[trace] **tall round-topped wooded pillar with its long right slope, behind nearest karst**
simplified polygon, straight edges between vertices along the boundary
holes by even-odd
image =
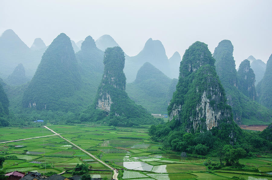
[[[270,124],[272,112],[250,97],[245,96],[238,89],[238,75],[231,41],[222,40],[215,48],[213,57],[216,60],[216,73],[225,89],[227,103],[232,106],[234,121],[245,125]]]

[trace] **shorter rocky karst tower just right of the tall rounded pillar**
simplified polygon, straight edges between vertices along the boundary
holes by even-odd
[[[238,89],[241,90],[244,95],[254,100],[256,96],[255,74],[250,68],[250,62],[247,59],[241,62],[237,75],[239,81]]]

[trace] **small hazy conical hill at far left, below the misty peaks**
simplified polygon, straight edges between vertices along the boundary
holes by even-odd
[[[25,76],[24,66],[19,64],[5,81],[11,86],[19,86],[29,81],[29,79]]]

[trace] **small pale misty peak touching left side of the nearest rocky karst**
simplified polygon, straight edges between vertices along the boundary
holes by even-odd
[[[168,59],[169,61],[169,66],[170,66],[170,74],[171,74],[171,78],[178,78],[179,77],[179,73],[180,73],[180,61],[181,61],[181,57],[180,54],[178,52],[175,52],[173,54],[173,56],[171,58]]]

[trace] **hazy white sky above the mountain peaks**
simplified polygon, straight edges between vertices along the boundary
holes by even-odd
[[[60,33],[78,42],[111,35],[130,56],[150,37],[168,58],[183,55],[195,41],[211,52],[223,39],[234,46],[236,66],[249,55],[267,61],[272,53],[272,0],[0,0],[0,34],[12,29],[30,47]]]

